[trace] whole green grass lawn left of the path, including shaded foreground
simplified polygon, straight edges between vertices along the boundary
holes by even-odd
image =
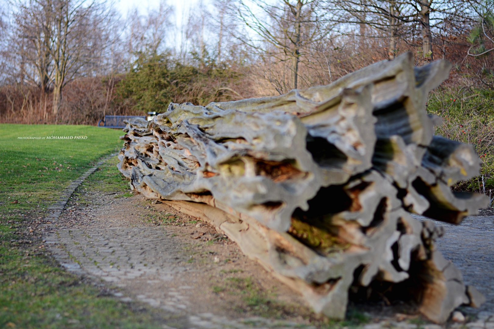
[[[102,295],[62,270],[30,232],[72,180],[122,146],[123,134],[91,126],[0,124],[0,328],[161,328],[157,312]],[[87,139],[18,139],[52,135]],[[104,178],[124,191],[115,165],[115,158],[109,160]]]

